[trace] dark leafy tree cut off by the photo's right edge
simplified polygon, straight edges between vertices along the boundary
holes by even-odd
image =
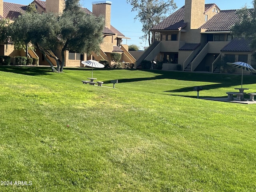
[[[237,37],[250,38],[251,48],[254,50],[254,56],[256,56],[256,0],[252,1],[254,8],[248,8],[244,6],[237,11],[238,22],[232,26],[232,34]]]

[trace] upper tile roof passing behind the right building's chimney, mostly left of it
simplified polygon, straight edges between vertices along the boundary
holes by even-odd
[[[215,4],[205,4],[204,11],[207,12]],[[184,23],[185,6],[178,9],[176,12],[168,16],[165,20],[151,28],[151,30],[178,30],[184,28],[187,23]]]

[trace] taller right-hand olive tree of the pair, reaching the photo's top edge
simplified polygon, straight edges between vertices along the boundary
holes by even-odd
[[[104,18],[86,14],[79,0],[66,0],[66,7],[60,16],[60,42],[62,55],[62,71],[64,66],[64,52],[77,53],[98,52],[103,41]]]

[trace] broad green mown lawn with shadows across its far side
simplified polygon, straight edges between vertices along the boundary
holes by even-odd
[[[256,191],[256,104],[192,91],[227,97],[241,75],[94,70],[106,87],[87,77],[0,67],[0,191]],[[256,76],[243,82],[256,92]]]

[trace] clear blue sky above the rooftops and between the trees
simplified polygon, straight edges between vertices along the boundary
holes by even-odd
[[[82,7],[92,11],[92,2],[101,0],[80,0]],[[140,39],[143,36],[142,24],[138,19],[134,20],[137,12],[131,12],[132,6],[126,3],[126,0],[108,0],[112,2],[111,5],[111,25],[119,30],[124,36],[131,38],[130,40],[123,39],[123,44],[135,44],[140,50],[144,50],[144,47],[148,46],[147,40]],[[164,0],[166,1],[166,0]],[[4,0],[4,2],[17,3],[28,5],[33,0]],[[185,0],[174,0],[177,5],[177,9],[181,8],[185,4]],[[252,8],[252,0],[205,0],[205,4],[215,3],[220,10],[240,9],[244,5],[248,8]],[[169,14],[170,15],[170,14]]]

